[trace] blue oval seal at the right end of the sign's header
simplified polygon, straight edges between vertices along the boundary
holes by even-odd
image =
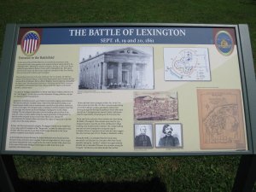
[[[230,55],[234,49],[234,41],[230,33],[219,31],[215,36],[215,46],[222,55]]]

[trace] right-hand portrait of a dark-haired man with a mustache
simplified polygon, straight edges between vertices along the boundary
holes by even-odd
[[[155,125],[156,148],[180,148],[182,143],[181,124],[158,124]]]

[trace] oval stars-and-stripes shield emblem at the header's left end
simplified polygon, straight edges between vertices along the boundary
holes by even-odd
[[[34,55],[40,46],[40,36],[38,32],[30,31],[21,38],[21,49],[27,56]]]

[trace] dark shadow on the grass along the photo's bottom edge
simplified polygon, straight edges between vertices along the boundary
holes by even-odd
[[[153,178],[151,181],[145,182],[59,182],[59,183],[46,183],[39,181],[26,181],[20,180],[19,189],[17,192],[153,192],[161,191],[166,192],[166,186],[160,182],[159,178]]]

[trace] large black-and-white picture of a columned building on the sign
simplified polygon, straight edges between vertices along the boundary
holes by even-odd
[[[152,47],[82,47],[79,89],[154,89]]]

